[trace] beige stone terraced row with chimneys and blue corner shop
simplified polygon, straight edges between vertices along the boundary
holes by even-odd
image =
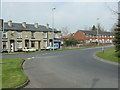
[[[54,43],[60,46],[61,31],[54,29]],[[53,44],[53,30],[46,26],[35,24],[4,23],[2,32],[2,52],[22,51],[23,48],[45,49]]]

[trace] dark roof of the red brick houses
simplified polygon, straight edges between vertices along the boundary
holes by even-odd
[[[80,32],[83,32],[88,35],[97,35],[97,31],[87,31],[87,30],[79,30]],[[99,35],[114,35],[112,32],[103,32],[103,31],[98,31]]]

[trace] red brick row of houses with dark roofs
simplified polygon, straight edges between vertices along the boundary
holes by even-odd
[[[63,36],[61,38],[69,39],[70,37],[74,37],[75,40],[77,40],[79,43],[82,44],[95,43],[95,42],[112,43],[112,40],[114,39],[114,33],[103,32],[103,31],[99,31],[97,34],[97,31],[78,30],[76,33],[70,35]]]

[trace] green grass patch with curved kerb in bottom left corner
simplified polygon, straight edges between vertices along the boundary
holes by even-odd
[[[27,80],[21,68],[22,62],[23,59],[2,60],[2,88],[14,88]]]

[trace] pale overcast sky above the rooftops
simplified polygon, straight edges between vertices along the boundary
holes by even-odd
[[[50,24],[55,7],[55,28],[68,27],[70,32],[89,29],[98,22],[109,31],[117,22],[117,2],[2,2],[2,18],[5,21]],[[99,18],[99,20],[97,20]]]

